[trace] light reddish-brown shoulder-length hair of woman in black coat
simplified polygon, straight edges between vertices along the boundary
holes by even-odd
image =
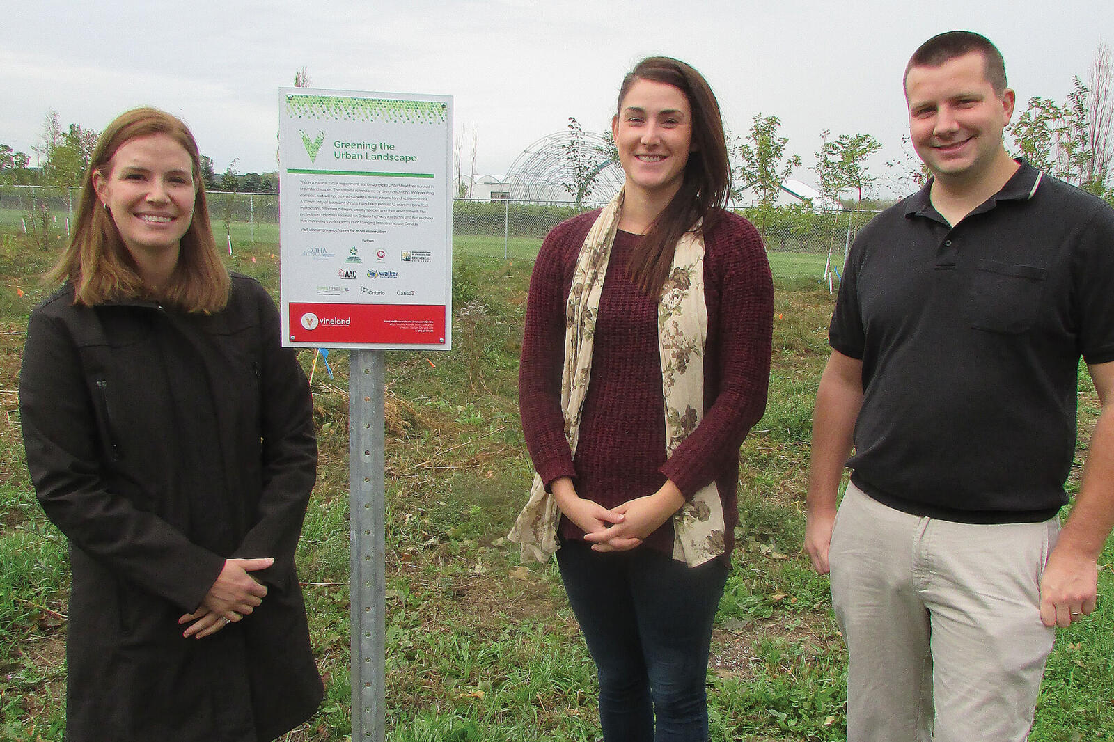
[[[166,286],[156,292],[139,277],[111,214],[100,205],[92,174],[109,178],[113,157],[126,143],[165,134],[182,145],[193,162],[194,217],[182,236],[178,263]],[[178,118],[156,108],[135,108],[105,127],[92,150],[81,184],[74,234],[48,279],[74,284],[74,303],[94,306],[120,299],[155,299],[187,312],[217,312],[228,302],[232,281],[221,262],[208,217],[201,155],[194,135]]]

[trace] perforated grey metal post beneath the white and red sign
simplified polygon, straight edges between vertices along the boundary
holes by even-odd
[[[349,363],[352,742],[383,742],[385,530],[383,351],[353,349]]]

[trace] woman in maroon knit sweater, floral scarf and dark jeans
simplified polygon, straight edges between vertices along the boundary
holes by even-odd
[[[558,549],[605,740],[705,740],[773,289],[758,232],[724,211],[723,124],[700,72],[639,62],[612,131],[623,193],[554,228],[530,280],[519,400],[538,477],[511,536],[535,558]]]

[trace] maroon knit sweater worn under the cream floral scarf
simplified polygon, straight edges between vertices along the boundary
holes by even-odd
[[[580,497],[610,508],[651,495],[672,479],[686,498],[713,479],[723,498],[726,551],[739,523],[739,447],[765,410],[770,380],[773,283],[754,226],[723,214],[704,235],[704,419],[673,456],[665,455],[657,303],[626,272],[638,237],[615,238],[596,321],[592,379],[574,457],[564,432],[560,379],[565,304],[576,258],[599,212],[557,225],[534,264],[518,372],[526,446],[546,487],[571,477]],[[561,518],[565,538],[584,531]],[[645,540],[673,550],[673,520]]]

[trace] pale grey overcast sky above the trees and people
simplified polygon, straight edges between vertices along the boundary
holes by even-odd
[[[477,173],[502,176],[575,116],[609,126],[623,75],[664,53],[700,69],[726,125],[781,118],[798,177],[820,135],[868,133],[872,170],[902,157],[901,71],[925,39],[984,33],[1018,106],[1063,98],[1114,41],[1112,0],[701,2],[688,0],[0,0],[0,144],[32,155],[47,109],[101,129],[127,108],[180,116],[218,172],[273,170],[277,89],[305,66],[314,87],[451,95],[477,133]],[[466,144],[466,149],[468,144]],[[467,158],[466,158],[467,159]],[[466,165],[467,169],[467,165]],[[882,185],[881,193],[887,193]]]

